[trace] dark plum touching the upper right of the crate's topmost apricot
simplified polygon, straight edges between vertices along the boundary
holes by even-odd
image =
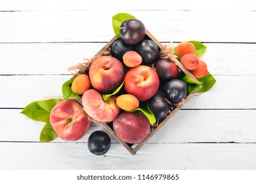
[[[136,45],[135,50],[142,57],[142,63],[144,64],[152,63],[156,58],[158,58],[158,45],[149,39],[144,39],[139,42]]]

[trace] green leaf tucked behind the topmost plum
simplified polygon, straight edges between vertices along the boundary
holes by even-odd
[[[135,18],[135,17],[132,16],[131,14],[122,13],[122,12],[112,16],[112,26],[113,26],[116,37],[120,38],[120,35],[119,35],[120,25],[125,20],[128,20],[130,18]]]

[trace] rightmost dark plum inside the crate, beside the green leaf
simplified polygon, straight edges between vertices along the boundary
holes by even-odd
[[[186,98],[188,86],[186,82],[178,79],[173,79],[167,82],[163,88],[165,97],[173,104],[179,103]]]

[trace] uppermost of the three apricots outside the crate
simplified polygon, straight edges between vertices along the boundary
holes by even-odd
[[[176,55],[179,59],[182,58],[182,56],[186,54],[195,54],[196,53],[196,48],[194,44],[191,42],[181,42],[177,47],[176,47]]]

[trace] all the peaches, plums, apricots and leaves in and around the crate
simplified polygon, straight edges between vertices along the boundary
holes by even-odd
[[[169,53],[203,80],[198,82],[186,76],[170,58],[162,57],[164,48],[146,35],[140,20],[129,14],[113,18],[117,39],[108,56],[91,59],[84,66],[88,69],[65,82],[63,99],[35,101],[22,110],[29,118],[46,122],[40,141],[56,137],[77,141],[87,133],[91,122],[96,122],[110,125],[121,141],[137,144],[187,95],[200,88],[205,92],[215,83],[205,62],[198,58],[198,52],[204,52],[202,43],[181,42]],[[96,155],[108,152],[110,144],[110,137],[103,131],[93,132],[88,140],[89,150]]]

